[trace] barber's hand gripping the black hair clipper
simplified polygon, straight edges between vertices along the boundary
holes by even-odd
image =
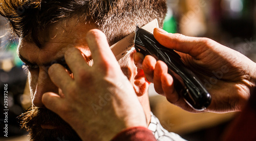
[[[176,50],[185,65],[201,79],[212,97],[205,111],[241,110],[255,86],[254,62],[208,38],[171,34],[161,29],[154,30],[154,37],[163,46]],[[134,60],[136,66],[144,70],[147,80],[154,83],[157,93],[185,110],[196,112],[175,91],[173,78],[167,73],[165,63],[156,61],[150,55],[144,58],[141,53],[135,53]]]

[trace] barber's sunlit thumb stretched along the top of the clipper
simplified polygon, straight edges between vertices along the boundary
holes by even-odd
[[[205,45],[206,38],[167,33],[159,28],[154,29],[154,37],[163,46],[187,53],[192,57],[197,57],[200,53],[208,49]]]

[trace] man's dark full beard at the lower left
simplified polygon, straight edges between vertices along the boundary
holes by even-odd
[[[47,108],[30,108],[19,117],[20,125],[30,133],[31,140],[81,140],[72,127]],[[52,125],[56,129],[42,129]]]

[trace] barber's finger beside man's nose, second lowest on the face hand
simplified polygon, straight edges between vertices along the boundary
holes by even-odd
[[[63,91],[65,91],[66,88],[69,88],[70,82],[73,80],[70,77],[70,74],[60,64],[53,64],[49,68],[48,74],[52,82]]]

